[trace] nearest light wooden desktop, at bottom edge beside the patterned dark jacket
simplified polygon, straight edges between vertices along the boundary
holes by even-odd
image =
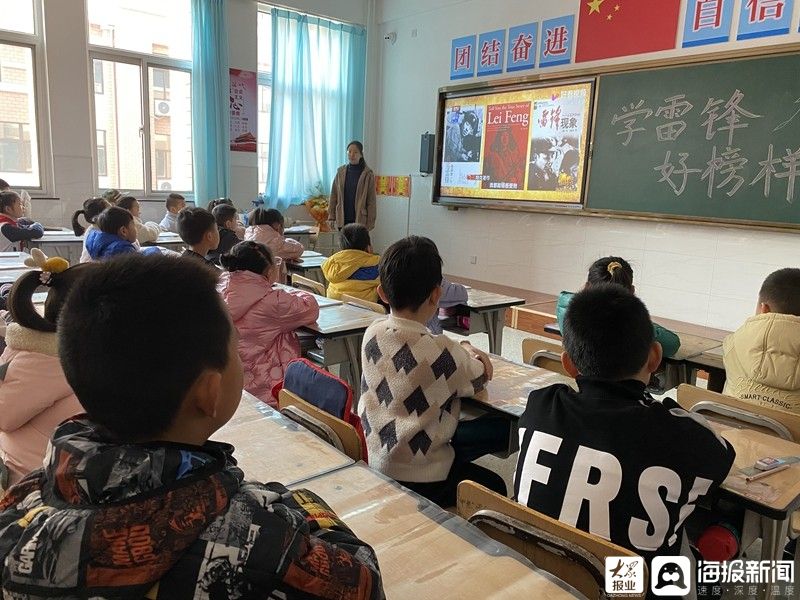
[[[462,518],[361,463],[295,487],[319,494],[374,548],[388,598],[578,596]]]

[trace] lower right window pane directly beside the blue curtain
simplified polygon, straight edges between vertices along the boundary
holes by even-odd
[[[150,81],[150,165],[154,191],[192,189],[192,77],[153,68]]]

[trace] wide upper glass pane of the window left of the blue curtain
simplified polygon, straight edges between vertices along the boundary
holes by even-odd
[[[189,0],[88,0],[89,43],[191,60]]]

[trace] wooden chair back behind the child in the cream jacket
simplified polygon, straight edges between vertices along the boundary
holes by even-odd
[[[745,425],[784,440],[800,442],[800,415],[759,406],[688,383],[678,386],[677,401],[689,412],[711,415],[718,421]]]

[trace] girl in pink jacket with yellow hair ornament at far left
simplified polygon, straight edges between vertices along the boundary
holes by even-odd
[[[59,362],[56,326],[67,294],[94,265],[69,268],[63,258],[47,258],[38,248],[31,255],[25,264],[34,270],[11,289],[8,309],[14,322],[0,356],[0,458],[10,484],[41,467],[56,426],[83,412]],[[44,316],[32,299],[41,285],[48,288]]]

